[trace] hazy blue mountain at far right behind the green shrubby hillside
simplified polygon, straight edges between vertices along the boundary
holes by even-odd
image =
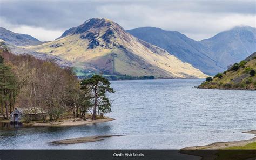
[[[256,51],[256,28],[234,27],[200,43],[214,54],[217,66],[226,68],[230,64],[244,60]]]

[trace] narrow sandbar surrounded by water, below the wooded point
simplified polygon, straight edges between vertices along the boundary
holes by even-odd
[[[51,142],[52,144],[76,144],[76,143],[87,143],[87,142],[96,142],[104,140],[104,138],[114,137],[114,136],[123,136],[123,135],[98,135],[98,136],[89,136],[89,137],[80,137],[75,139],[65,139]]]

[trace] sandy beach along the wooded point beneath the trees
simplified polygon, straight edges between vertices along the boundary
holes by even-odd
[[[110,117],[105,117],[103,119],[96,119],[96,120],[91,120],[87,119],[86,121],[80,119],[80,121],[73,121],[74,119],[67,119],[63,120],[61,122],[51,122],[51,123],[33,123],[31,126],[78,126],[78,125],[89,125],[93,123],[102,123],[102,122],[108,122],[114,120],[113,118]]]

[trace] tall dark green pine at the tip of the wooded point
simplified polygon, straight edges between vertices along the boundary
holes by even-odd
[[[110,82],[101,75],[93,75],[90,79],[84,79],[81,85],[81,89],[90,92],[90,100],[93,104],[92,119],[95,120],[99,106],[100,108],[110,108],[111,104],[106,97],[106,93],[114,93],[114,90],[110,87]]]

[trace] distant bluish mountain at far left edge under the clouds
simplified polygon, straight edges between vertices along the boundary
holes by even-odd
[[[14,33],[2,27],[0,27],[0,39],[16,46],[40,45],[43,43],[31,35]]]

